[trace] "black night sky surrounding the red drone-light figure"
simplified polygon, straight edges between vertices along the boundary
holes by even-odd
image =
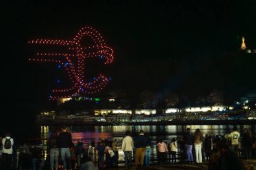
[[[66,85],[57,65],[28,61],[36,53],[28,41],[71,40],[84,26],[115,50],[111,65],[86,63],[88,77],[102,71],[113,78],[105,90],[168,91],[191,101],[218,90],[232,101],[256,89],[256,54],[238,50],[242,36],[256,49],[256,1],[5,0],[0,8],[1,115],[13,121],[51,105],[57,79]]]

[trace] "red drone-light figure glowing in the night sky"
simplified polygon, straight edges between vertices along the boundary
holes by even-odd
[[[93,40],[92,46],[82,46],[81,40],[88,36]],[[29,59],[34,62],[54,62],[65,67],[72,87],[54,89],[50,99],[71,97],[75,93],[92,94],[100,91],[108,83],[108,78],[100,74],[91,83],[86,83],[84,63],[88,57],[104,58],[104,64],[113,62],[113,49],[106,46],[102,36],[93,28],[85,27],[79,30],[73,40],[31,40],[31,44],[65,46],[67,53],[37,53],[37,58]]]

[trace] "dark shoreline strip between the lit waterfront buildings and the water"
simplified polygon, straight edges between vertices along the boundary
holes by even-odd
[[[119,126],[119,125],[243,125],[255,124],[256,120],[172,120],[172,121],[159,121],[159,122],[73,122],[67,120],[37,122],[40,126]]]

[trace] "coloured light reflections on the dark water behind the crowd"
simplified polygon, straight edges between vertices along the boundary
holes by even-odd
[[[101,139],[108,138],[112,140],[117,138],[118,149],[119,149],[119,161],[123,161],[123,151],[121,149],[121,144],[123,137],[125,136],[125,131],[130,130],[132,136],[137,136],[139,130],[143,130],[148,134],[154,147],[152,148],[152,159],[156,159],[156,138],[162,137],[166,143],[168,143],[172,138],[179,140],[187,128],[191,128],[192,132],[195,132],[197,128],[201,130],[203,136],[205,134],[220,134],[224,136],[226,133],[232,130],[233,126],[230,125],[167,125],[167,126],[69,126],[68,130],[71,132],[74,144],[77,143],[77,139],[84,142],[84,147],[87,148],[90,140],[97,142]],[[243,132],[243,128],[248,128],[249,132],[255,135],[255,125],[238,125],[238,131]],[[41,139],[42,144],[46,144],[46,139],[51,134],[51,131],[56,129],[54,126],[41,126]]]

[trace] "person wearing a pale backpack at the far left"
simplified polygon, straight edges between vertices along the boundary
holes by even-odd
[[[5,166],[6,170],[11,169],[11,157],[13,154],[13,138],[11,138],[11,133],[9,131],[5,132],[5,138],[2,139],[2,144],[3,144],[3,153],[2,153],[2,158],[3,158],[3,165]]]

